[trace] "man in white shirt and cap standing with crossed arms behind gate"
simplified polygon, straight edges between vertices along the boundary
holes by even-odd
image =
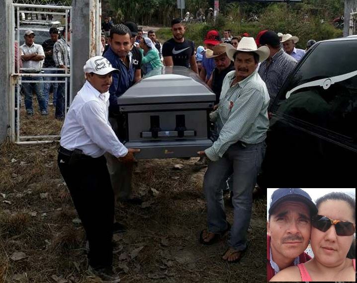
[[[22,73],[40,73],[42,63],[45,59],[45,53],[40,44],[34,43],[35,33],[32,30],[26,30],[25,43],[20,46],[21,60],[23,61]],[[25,81],[42,81],[42,76],[22,76],[22,89],[25,94],[25,107],[27,116],[33,115],[32,107],[32,92],[37,95],[38,105],[40,106],[41,115],[47,115],[47,103],[43,94],[43,84],[41,82],[25,82]]]

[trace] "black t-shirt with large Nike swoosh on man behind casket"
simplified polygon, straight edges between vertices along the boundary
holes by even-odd
[[[181,43],[172,38],[163,45],[163,57],[172,56],[174,66],[190,68],[189,60],[192,55],[194,55],[194,44],[189,39],[184,39]]]

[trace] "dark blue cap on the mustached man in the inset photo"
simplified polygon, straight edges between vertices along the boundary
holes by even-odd
[[[311,200],[311,197],[305,191],[299,188],[280,188],[271,195],[269,214],[282,202],[295,201],[306,204],[311,212],[311,216],[317,214],[318,209]]]

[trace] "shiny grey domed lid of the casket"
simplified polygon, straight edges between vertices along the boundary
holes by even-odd
[[[119,105],[214,102],[216,95],[201,78],[181,66],[150,71],[118,98]]]

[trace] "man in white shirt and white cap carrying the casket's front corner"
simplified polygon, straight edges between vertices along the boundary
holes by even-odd
[[[105,282],[112,273],[114,194],[104,157],[109,152],[122,162],[133,162],[140,149],[126,148],[108,121],[109,61],[90,58],[84,66],[87,81],[75,96],[61,130],[58,166],[71,193],[89,242],[89,272]]]

